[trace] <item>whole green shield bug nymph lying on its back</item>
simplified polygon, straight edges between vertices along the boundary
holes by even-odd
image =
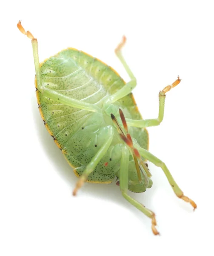
[[[139,193],[151,188],[148,160],[163,170],[177,197],[196,209],[165,163],[148,151],[146,128],[162,122],[165,94],[180,83],[180,77],[160,91],[158,118],[142,119],[131,93],[136,78],[122,55],[125,37],[115,53],[130,77],[127,83],[102,61],[74,48],[39,63],[37,39],[21,22],[17,27],[31,39],[37,102],[44,124],[79,177],[73,195],[85,182],[112,183],[117,177],[123,197],[151,218],[152,231],[158,235],[154,212],[127,194],[128,190]]]

